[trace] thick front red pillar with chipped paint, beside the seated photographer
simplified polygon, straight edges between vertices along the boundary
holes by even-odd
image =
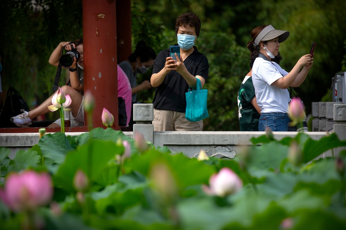
[[[115,0],[83,0],[84,92],[95,97],[93,127],[104,127],[102,110],[118,126],[117,27]],[[85,116],[86,118],[86,116]]]

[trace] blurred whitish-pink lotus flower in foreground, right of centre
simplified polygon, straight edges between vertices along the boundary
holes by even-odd
[[[229,168],[220,169],[209,178],[209,187],[203,185],[202,189],[209,195],[224,197],[236,193],[243,186],[239,176]]]

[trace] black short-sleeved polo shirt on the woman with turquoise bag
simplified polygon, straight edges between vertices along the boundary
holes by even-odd
[[[177,44],[175,45],[177,46]],[[186,69],[192,76],[202,76],[207,81],[208,59],[194,46],[194,51],[184,60]],[[165,67],[166,58],[170,57],[170,49],[162,50],[154,61],[153,74]],[[169,72],[160,86],[156,87],[153,105],[155,109],[185,112],[185,92],[189,85],[177,71]]]

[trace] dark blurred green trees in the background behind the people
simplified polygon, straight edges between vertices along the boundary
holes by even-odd
[[[2,88],[15,87],[27,101],[37,94],[42,102],[52,93],[56,68],[48,64],[53,49],[61,41],[82,36],[82,0],[30,0],[0,2],[0,54],[3,57]],[[290,71],[308,53],[313,41],[314,66],[307,79],[295,88],[311,113],[311,102],[329,94],[331,78],[346,71],[346,23],[340,9],[343,0],[132,0],[132,44],[145,40],[156,53],[176,43],[175,19],[184,12],[196,13],[201,32],[196,46],[209,60],[209,90],[204,130],[237,131],[237,93],[249,71],[247,42],[253,28],[272,24],[290,31],[280,53],[281,66]],[[151,73],[138,82],[150,79]],[[64,72],[62,73],[64,74]],[[64,76],[64,75],[62,75]],[[61,79],[62,84],[66,79]],[[138,93],[139,101],[151,103],[155,89]],[[52,114],[52,113],[50,113]],[[51,116],[51,115],[50,115]]]

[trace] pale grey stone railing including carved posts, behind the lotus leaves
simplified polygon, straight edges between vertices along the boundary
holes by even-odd
[[[336,104],[337,112],[341,114],[340,119],[345,117],[345,109],[341,109],[342,104]],[[344,104],[344,106],[346,106]],[[342,112],[340,112],[340,109]],[[337,118],[339,119],[339,115]],[[344,117],[343,117],[344,116]],[[236,154],[242,152],[245,146],[252,145],[251,138],[260,137],[265,132],[240,132],[240,131],[164,131],[154,132],[153,121],[153,104],[134,104],[134,121],[133,132],[124,132],[126,136],[133,138],[136,132],[142,133],[147,141],[157,146],[167,146],[173,154],[183,152],[188,157],[196,157],[201,150],[207,152],[209,156],[218,158],[233,158]],[[321,119],[316,119],[321,120]],[[334,119],[337,120],[337,119]],[[334,131],[338,132],[340,139],[346,140],[346,129],[344,121],[335,121]],[[319,140],[326,136],[325,130],[306,132],[314,140]],[[72,133],[70,136],[77,136],[81,133]],[[284,137],[294,137],[297,132],[273,132],[277,140]],[[39,141],[38,133],[0,133],[0,146],[11,149],[11,155],[20,149],[29,149]],[[274,153],[273,153],[274,154]],[[336,155],[337,152],[334,151]],[[320,157],[331,156],[331,151],[327,151]]]

